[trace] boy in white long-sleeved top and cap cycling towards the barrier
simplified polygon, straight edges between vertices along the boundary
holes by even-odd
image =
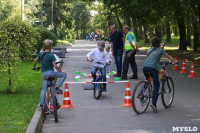
[[[92,67],[92,77],[93,82],[96,80],[96,72],[100,68],[101,75],[103,77],[103,82],[106,82],[106,64],[109,64],[109,60],[107,58],[107,52],[104,50],[105,48],[105,42],[99,41],[98,47],[93,49],[91,52],[87,54],[87,60],[92,62],[93,61],[93,67]],[[91,59],[91,56],[93,55],[93,60]],[[106,92],[106,84],[103,84],[103,92]]]

